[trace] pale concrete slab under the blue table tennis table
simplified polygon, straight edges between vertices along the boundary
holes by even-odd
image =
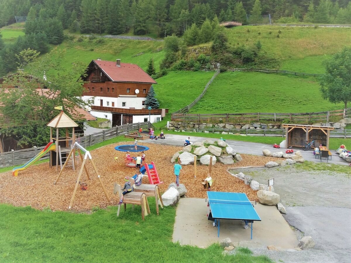
[[[275,245],[284,249],[294,248],[297,245],[297,236],[279,213],[276,206],[263,204],[255,205],[261,222],[253,223],[253,238],[255,247]],[[176,213],[173,229],[173,242],[180,244],[207,247],[230,237],[236,245],[240,241],[251,241],[251,230],[244,228],[239,220],[221,220],[220,233],[217,237],[217,227],[213,221],[207,220],[207,203],[203,198],[181,198]],[[251,224],[250,224],[251,225]],[[249,242],[252,243],[252,242]],[[247,243],[247,244],[249,244]]]

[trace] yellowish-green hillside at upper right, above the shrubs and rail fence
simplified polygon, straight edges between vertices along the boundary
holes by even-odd
[[[226,32],[231,46],[253,45],[259,40],[263,51],[282,61],[281,69],[302,72],[301,66],[306,73],[323,70],[324,55],[334,54],[351,43],[351,28],[243,26]],[[313,67],[305,67],[303,62],[285,62],[300,59],[308,60]]]

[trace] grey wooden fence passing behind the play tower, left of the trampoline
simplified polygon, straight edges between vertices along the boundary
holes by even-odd
[[[77,138],[77,142],[81,144],[83,147],[92,146],[99,142],[106,141],[108,139],[112,139],[118,135],[125,135],[132,131],[139,130],[139,128],[147,129],[153,127],[149,122],[139,122],[139,123],[130,123],[124,124],[120,126],[116,126],[110,129],[106,129],[100,131],[98,133],[94,133],[87,136],[82,136]],[[33,147],[18,151],[8,151],[6,153],[0,154],[0,168],[9,167],[9,166],[19,166],[31,160],[34,156],[36,156],[45,146],[41,147]],[[45,154],[40,160],[49,159],[49,153]]]

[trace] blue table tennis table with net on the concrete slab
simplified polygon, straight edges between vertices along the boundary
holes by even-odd
[[[219,237],[219,220],[243,220],[245,229],[248,229],[251,223],[251,239],[252,239],[252,223],[253,221],[261,221],[253,204],[247,198],[245,193],[227,193],[207,191],[208,209],[211,210],[214,219],[213,226],[218,228]],[[210,211],[208,211],[208,216]]]

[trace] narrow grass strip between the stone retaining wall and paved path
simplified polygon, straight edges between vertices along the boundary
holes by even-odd
[[[157,133],[157,132],[156,132]],[[277,143],[279,144],[283,140],[285,140],[284,137],[271,137],[271,136],[241,136],[241,135],[232,135],[232,134],[217,134],[217,133],[190,133],[190,132],[177,132],[177,131],[172,131],[172,130],[164,130],[165,134],[179,134],[179,135],[184,135],[184,136],[198,136],[198,137],[207,137],[207,138],[217,138],[220,139],[221,137],[223,139],[228,139],[228,140],[234,140],[234,141],[243,141],[243,142],[259,142],[259,143],[267,143],[267,144],[274,144]],[[342,138],[330,138],[329,139],[329,149],[336,150],[339,148],[341,144],[344,144],[346,146],[346,149],[350,148],[351,149],[351,139],[342,139]]]

